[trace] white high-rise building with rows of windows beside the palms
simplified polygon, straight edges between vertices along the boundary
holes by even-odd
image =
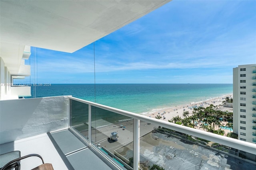
[[[233,97],[234,132],[256,143],[256,64],[233,68]]]

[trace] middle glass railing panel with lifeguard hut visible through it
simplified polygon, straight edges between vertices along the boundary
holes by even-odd
[[[92,106],[92,144],[116,164],[133,168],[133,119]]]

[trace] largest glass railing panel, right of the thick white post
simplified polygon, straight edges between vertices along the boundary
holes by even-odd
[[[140,127],[143,128],[144,125],[148,127],[145,123],[141,123]],[[249,165],[244,160],[227,155],[238,155],[237,149],[168,128],[154,127],[153,131],[140,138],[140,169],[148,170],[152,166],[155,169],[177,170],[218,169],[218,167],[243,169],[244,166],[248,169],[251,166],[256,168],[256,165],[252,163]],[[140,129],[143,134],[142,131]],[[246,156],[249,159],[248,153]],[[240,163],[234,164],[233,162]]]

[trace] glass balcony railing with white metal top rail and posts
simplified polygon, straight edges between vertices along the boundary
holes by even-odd
[[[252,150],[256,150],[256,146],[242,140],[74,97],[69,99],[70,129],[108,160],[126,169],[147,170],[153,165],[161,165],[165,169],[189,168],[190,165],[185,166],[184,161],[193,162],[196,168],[196,165],[202,164],[201,156],[196,154],[205,158],[215,155],[218,158],[214,159],[223,159],[216,155],[217,150],[236,156],[238,150],[255,154]],[[209,146],[215,151],[208,149]],[[174,164],[174,161],[181,162]],[[202,166],[208,164],[203,163]]]

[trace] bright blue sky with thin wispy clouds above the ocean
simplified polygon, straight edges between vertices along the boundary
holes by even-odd
[[[93,44],[36,50],[36,83],[94,83]],[[256,63],[256,1],[173,0],[96,41],[95,57],[96,83],[232,83]]]

